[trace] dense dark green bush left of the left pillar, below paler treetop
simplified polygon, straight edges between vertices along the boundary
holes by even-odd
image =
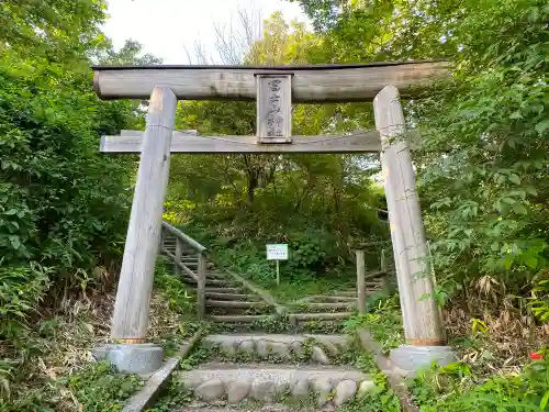
[[[92,268],[99,250],[114,253],[128,201],[124,164],[97,153],[96,133],[107,130],[79,85],[87,78],[63,69],[16,58],[0,65],[3,265],[31,258],[58,276]]]

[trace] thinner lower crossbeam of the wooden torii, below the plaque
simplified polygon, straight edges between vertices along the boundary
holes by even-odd
[[[130,133],[132,132],[132,133]],[[293,136],[291,144],[258,144],[256,136],[197,136],[173,132],[171,153],[379,153],[379,132],[341,136]],[[102,136],[102,153],[141,153],[143,132],[123,131],[121,136]]]

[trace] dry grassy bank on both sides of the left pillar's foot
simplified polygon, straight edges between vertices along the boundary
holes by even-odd
[[[183,285],[157,265],[150,302],[149,338],[165,355],[198,327]],[[142,386],[135,376],[93,363],[91,349],[109,341],[113,291],[67,297],[55,311],[40,309],[14,347],[0,342],[0,412],[114,412]]]

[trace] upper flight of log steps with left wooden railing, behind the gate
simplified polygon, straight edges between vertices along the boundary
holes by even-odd
[[[216,267],[204,246],[166,222],[163,223],[160,246],[173,263],[175,274],[195,292],[199,319],[205,314],[217,323],[257,324],[284,314],[284,321],[289,323],[287,330],[337,331],[357,310],[356,289],[306,297],[281,307],[268,293],[258,292],[249,281]],[[381,266],[382,270],[367,275],[363,282],[366,294],[385,287],[386,270],[383,263]],[[201,277],[205,282],[203,289],[199,287]],[[200,309],[202,304],[203,309]]]

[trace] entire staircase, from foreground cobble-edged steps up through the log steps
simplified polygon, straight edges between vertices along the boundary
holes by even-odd
[[[356,289],[281,307],[248,280],[217,267],[202,245],[165,227],[161,247],[175,272],[197,292],[199,305],[203,296],[205,319],[217,323],[213,330],[231,331],[203,337],[183,361],[176,382],[192,401],[172,412],[361,410],[357,400],[376,385],[363,370],[349,366],[357,353],[355,342],[326,334],[340,330],[356,313]],[[384,287],[385,272],[379,275],[368,277],[367,294]],[[290,331],[294,334],[284,334]]]

